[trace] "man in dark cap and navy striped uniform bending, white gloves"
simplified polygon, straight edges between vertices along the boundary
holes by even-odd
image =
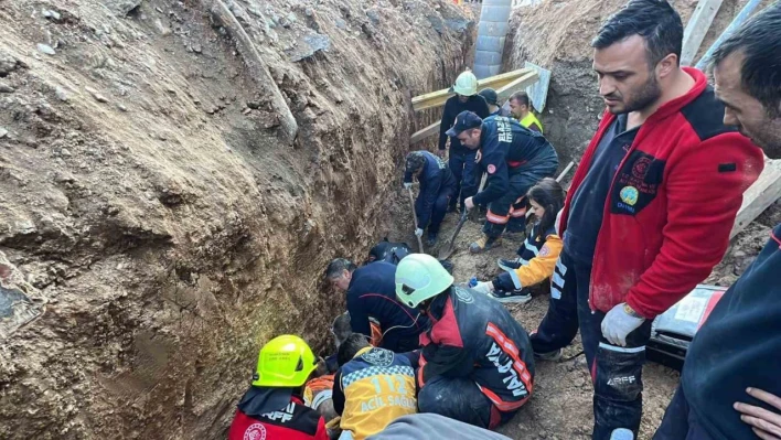
[[[505,227],[510,233],[525,233],[524,195],[558,168],[550,142],[514,119],[492,116],[483,121],[471,111],[461,112],[448,133],[467,148],[479,149],[477,175],[488,173],[485,189],[464,201],[468,210],[488,205],[483,235],[469,250],[477,254],[498,246]]]

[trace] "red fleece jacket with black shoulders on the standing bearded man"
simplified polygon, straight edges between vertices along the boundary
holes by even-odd
[[[592,310],[627,302],[652,319],[676,303],[724,256],[742,193],[762,172],[761,150],[723,124],[724,105],[705,75],[684,69],[694,87],[649,117],[613,176],[591,269]],[[584,153],[559,235],[614,118],[605,112]]]

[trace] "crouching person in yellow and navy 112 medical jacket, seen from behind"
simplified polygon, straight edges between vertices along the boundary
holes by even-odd
[[[353,333],[339,347],[340,368],[333,378],[333,408],[340,427],[356,440],[375,434],[396,418],[415,414],[415,369],[411,361],[372,347]]]

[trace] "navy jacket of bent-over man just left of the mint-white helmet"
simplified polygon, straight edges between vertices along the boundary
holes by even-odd
[[[428,319],[396,300],[396,266],[375,261],[355,269],[347,288],[350,325],[355,333],[372,335],[368,318],[379,322],[385,333],[382,346],[398,339],[415,337],[428,326]],[[390,330],[392,328],[396,328]],[[390,331],[388,331],[390,330]]]

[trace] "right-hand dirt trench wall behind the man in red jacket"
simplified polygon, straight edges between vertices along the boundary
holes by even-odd
[[[747,1],[723,2],[695,61],[699,61]],[[763,1],[757,10],[770,2]],[[605,109],[591,69],[590,42],[602,21],[625,3],[627,0],[544,0],[533,7],[517,8],[511,17],[504,71],[523,67],[525,61],[552,71],[542,121],[545,136],[559,152],[563,165],[570,160],[580,161]],[[697,1],[672,0],[671,3],[685,28]]]

